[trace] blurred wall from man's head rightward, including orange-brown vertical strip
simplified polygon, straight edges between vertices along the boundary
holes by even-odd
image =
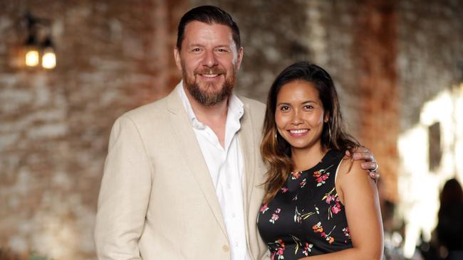
[[[325,67],[337,85],[348,130],[381,164],[384,197],[397,199],[399,128],[387,123],[399,120],[395,1],[193,2],[222,6],[239,23],[245,53],[236,87],[241,94],[265,101],[274,77],[298,60]]]

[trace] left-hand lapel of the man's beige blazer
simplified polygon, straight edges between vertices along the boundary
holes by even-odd
[[[177,87],[182,87],[182,85],[177,85]],[[172,131],[175,134],[176,139],[179,141],[178,143],[180,143],[182,156],[184,156],[187,161],[194,178],[209,203],[212,213],[214,213],[217,223],[228,239],[222,210],[220,209],[219,200],[217,200],[217,195],[215,193],[209,169],[207,168],[206,161],[204,161],[204,157],[202,156],[201,148],[197,143],[196,136],[187,117],[187,112],[185,112],[183,107],[182,100],[177,92],[177,88],[169,94],[166,102],[167,110],[170,112],[169,119],[170,124],[172,125]]]

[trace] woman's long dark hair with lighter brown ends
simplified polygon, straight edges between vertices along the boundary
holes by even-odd
[[[318,90],[325,113],[329,114],[328,121],[323,124],[321,134],[322,146],[340,151],[351,150],[359,146],[358,141],[344,130],[338,94],[328,72],[318,65],[307,62],[298,62],[286,67],[276,77],[267,97],[261,153],[262,158],[269,163],[270,167],[267,172],[266,182],[264,183],[266,189],[264,203],[269,202],[276,195],[281,187],[283,187],[291,170],[293,170],[291,145],[276,131],[275,111],[276,97],[281,87],[294,80],[312,82]]]

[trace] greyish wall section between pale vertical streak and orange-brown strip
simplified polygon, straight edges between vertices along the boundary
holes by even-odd
[[[333,77],[344,122],[348,131],[360,138],[360,68],[355,63],[355,36],[359,30],[356,23],[358,6],[350,1],[321,0],[310,1],[308,8],[312,33],[307,42],[311,46],[311,53],[315,56],[315,62],[326,67]]]

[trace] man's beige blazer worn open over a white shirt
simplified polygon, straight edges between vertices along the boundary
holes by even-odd
[[[264,104],[240,97],[244,219],[252,259],[266,246],[256,217],[264,195],[259,144]],[[115,121],[98,198],[98,259],[230,259],[207,165],[177,91]]]

